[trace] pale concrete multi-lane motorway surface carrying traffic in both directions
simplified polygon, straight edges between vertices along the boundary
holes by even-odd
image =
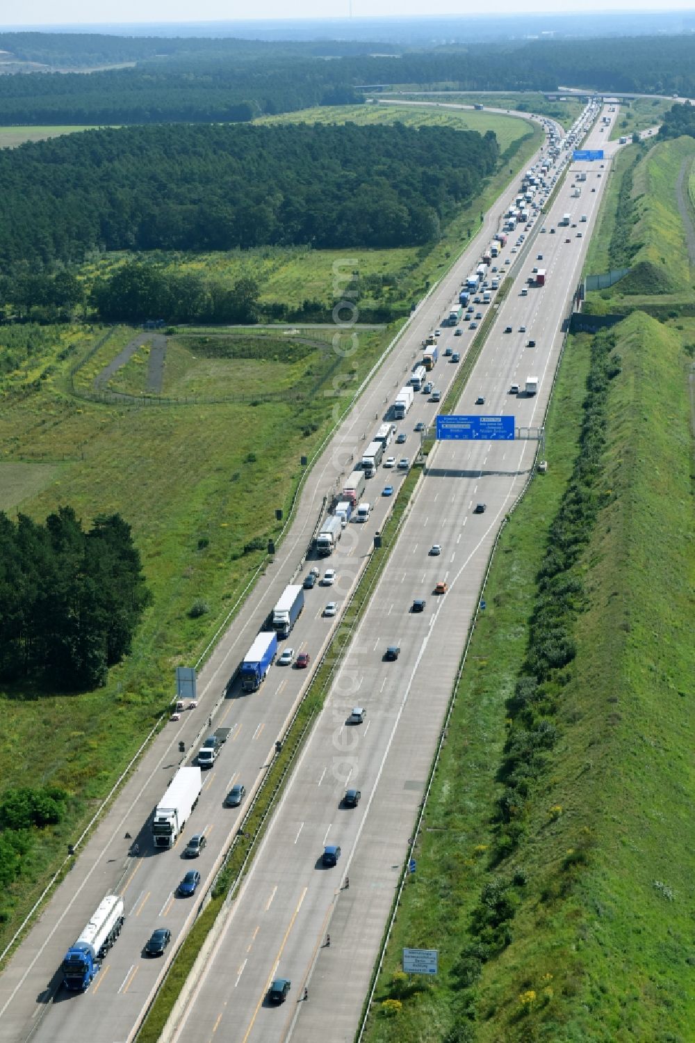
[[[607,166],[606,162],[604,173]],[[556,226],[563,212],[580,210],[589,218],[581,225],[586,237],[603,184],[593,172],[590,177],[597,192],[591,193],[594,186],[587,185],[581,199],[572,200],[574,205],[569,201],[569,184],[560,190],[553,212],[542,218],[548,228]],[[163,963],[142,956],[142,947],[156,926],[169,926],[180,940],[197,905],[197,900],[174,897],[175,887],[189,868],[179,857],[182,844],[174,851],[156,854],[149,844],[148,820],[178,765],[178,741],[182,737],[187,747],[195,745],[196,734],[206,731],[208,712],[216,726],[233,729],[205,778],[203,795],[183,839],[193,832],[206,832],[207,848],[195,865],[203,880],[209,881],[243,814],[243,809],[223,808],[222,799],[234,781],[242,780],[252,790],[263,778],[274,741],[307,678],[303,672],[275,666],[260,692],[247,698],[240,698],[235,688],[225,698],[226,681],[282,586],[293,577],[323,496],[331,491],[340,472],[349,469],[348,455],[357,456],[363,435],[374,429],[386,402],[392,401],[405,382],[422,339],[448,311],[462,278],[496,231],[498,215],[516,194],[517,184],[515,180],[510,186],[488,215],[483,236],[421,307],[407,336],[370,382],[341,428],[341,451],[331,446],[314,467],[274,571],[259,581],[252,601],[201,673],[199,709],[157,737],[140,771],[86,844],[76,868],[18,949],[0,979],[0,1040],[31,1036],[51,1043],[72,1043],[83,1033],[85,1023],[93,1041],[132,1038],[163,970]],[[512,412],[521,427],[538,426],[542,420],[562,341],[562,319],[587,242],[586,238],[576,239],[574,233],[569,244],[560,234],[541,235],[539,222],[532,236],[535,242],[525,246],[527,256],[516,266],[514,287],[499,309],[460,407],[462,412]],[[514,237],[502,253],[502,265],[513,243]],[[547,285],[522,297],[521,288],[538,252],[544,254]],[[526,334],[518,333],[521,324],[526,325]],[[506,325],[515,332],[502,333]],[[461,350],[463,344],[465,350],[471,336],[454,338],[453,331],[447,330],[441,346],[450,344]],[[536,340],[536,348],[524,346],[529,337]],[[441,359],[433,371],[436,385],[446,391],[455,370],[455,365]],[[507,393],[510,384],[523,383],[527,371],[541,378],[540,394],[517,399]],[[473,405],[478,395],[485,396],[482,407]],[[424,396],[417,396],[406,420],[399,425],[407,432],[403,455],[413,458],[415,423],[420,419],[431,422],[435,409]],[[394,446],[394,455],[400,451]],[[204,966],[181,997],[167,1039],[320,1039],[327,1023],[336,1038],[352,1038],[488,554],[501,517],[526,481],[533,451],[535,445],[527,442],[441,443],[430,456],[426,476],[326,707],[253,868],[220,921]],[[322,617],[325,603],[337,600],[340,606],[345,601],[366,561],[374,532],[383,523],[389,501],[379,493],[387,482],[397,487],[397,472],[380,468],[369,484],[373,490],[369,499],[376,505],[370,523],[350,525],[338,552],[330,560],[324,559],[323,564],[338,569],[336,586],[306,592],[304,613],[286,642],[296,651],[309,651],[313,660],[320,656],[336,625]],[[477,501],[487,503],[485,514],[472,513]],[[433,542],[442,544],[439,558],[427,553]],[[431,591],[439,580],[445,580],[449,590],[438,599]],[[426,598],[422,614],[408,612],[415,597]],[[382,661],[383,649],[390,644],[401,647],[396,662]],[[348,728],[345,719],[355,704],[367,708],[367,718],[362,726]],[[359,806],[352,810],[339,806],[348,783],[363,793]],[[130,831],[135,836],[141,827],[141,857],[132,859],[127,856],[129,842],[124,833]],[[330,842],[341,845],[342,858],[336,869],[322,870],[318,860],[324,843]],[[345,889],[348,875],[350,886]],[[126,902],[121,939],[109,951],[92,989],[84,996],[67,996],[57,988],[60,960],[99,899],[109,891],[123,894]],[[329,947],[325,946],[328,933]],[[265,990],[275,973],[293,983],[289,1001],[279,1010],[264,1004]],[[309,1001],[297,1002],[304,987],[309,990]]]

